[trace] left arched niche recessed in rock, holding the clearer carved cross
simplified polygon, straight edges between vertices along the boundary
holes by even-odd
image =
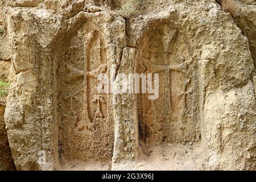
[[[60,159],[111,163],[112,101],[97,90],[98,74],[110,72],[109,47],[102,30],[86,26],[76,30],[60,62]]]

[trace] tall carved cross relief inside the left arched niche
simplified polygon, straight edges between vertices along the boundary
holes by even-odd
[[[106,45],[98,30],[90,32],[84,42],[84,70],[68,65],[70,73],[66,79],[70,82],[80,77],[84,78],[84,98],[82,118],[78,122],[79,131],[84,130],[85,126],[89,130],[95,130],[97,122],[108,118],[108,113],[104,113],[107,109],[103,109],[103,105],[108,105],[108,96],[97,92],[97,76],[108,72]],[[72,100],[73,98],[70,99],[71,102]]]

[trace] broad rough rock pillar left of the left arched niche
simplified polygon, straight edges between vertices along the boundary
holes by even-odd
[[[18,170],[56,169],[56,62],[52,50],[61,18],[47,10],[6,9],[15,77],[5,122],[15,166]]]

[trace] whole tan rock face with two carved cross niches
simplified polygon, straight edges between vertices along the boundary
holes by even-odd
[[[3,2],[16,169],[255,170],[255,5],[240,6],[147,1],[124,19],[122,1]],[[158,73],[158,97],[118,94],[130,73]]]

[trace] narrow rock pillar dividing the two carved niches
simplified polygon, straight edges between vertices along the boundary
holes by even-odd
[[[127,83],[131,83],[133,77],[129,73],[134,72],[135,48],[124,48],[121,63],[115,74],[114,90],[118,89],[118,82],[125,74]],[[123,83],[123,82],[122,82]],[[128,93],[115,94],[114,96],[114,120],[115,140],[112,170],[134,169],[137,160],[138,148],[138,117],[136,96]]]

